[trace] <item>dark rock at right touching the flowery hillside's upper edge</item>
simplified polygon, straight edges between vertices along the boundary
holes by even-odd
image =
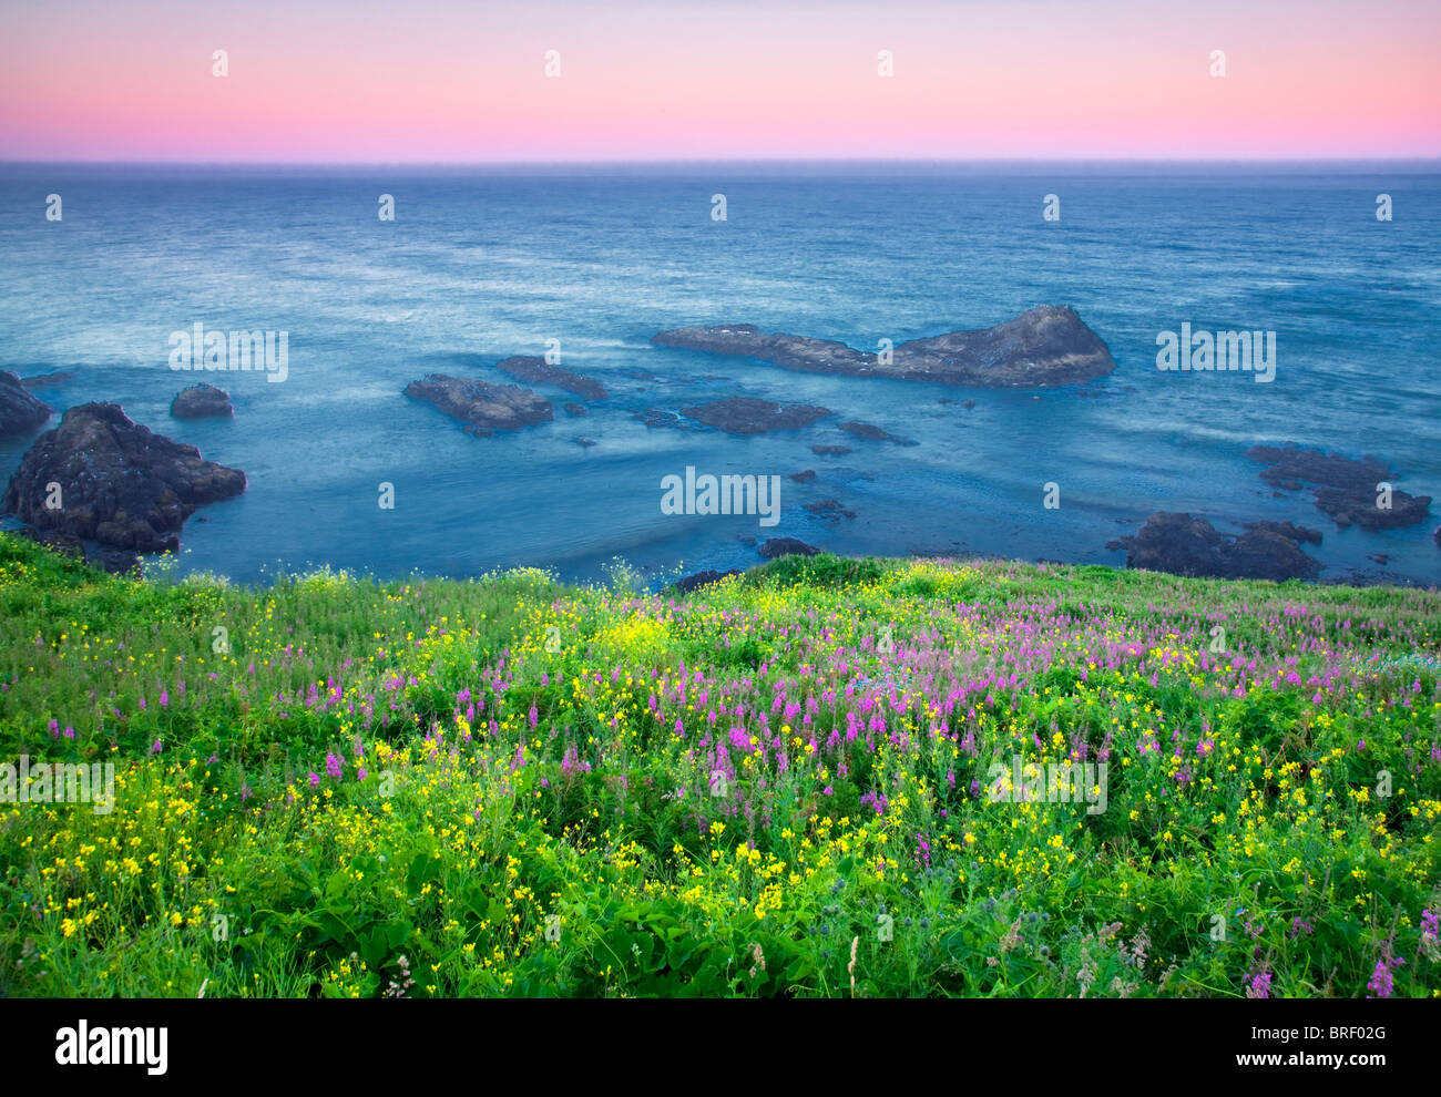
[[[1112,541],[1125,548],[1125,566],[1212,579],[1316,579],[1321,566],[1295,541],[1271,530],[1241,537],[1222,534],[1205,518],[1159,511],[1134,537]]]

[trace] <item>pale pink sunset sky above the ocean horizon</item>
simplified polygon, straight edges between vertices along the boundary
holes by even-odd
[[[0,0],[0,158],[1435,157],[1438,60],[1438,0]]]

